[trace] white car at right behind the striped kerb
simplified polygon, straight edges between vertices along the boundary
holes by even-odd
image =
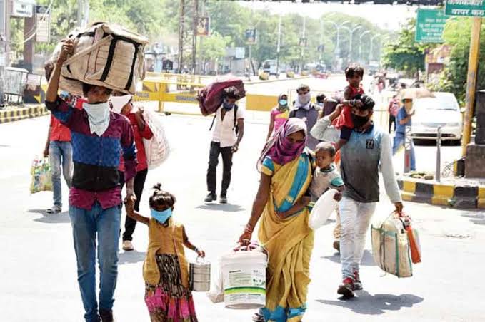
[[[420,140],[436,140],[441,126],[441,140],[461,140],[463,118],[456,97],[452,93],[434,93],[434,98],[414,101],[411,136]]]

